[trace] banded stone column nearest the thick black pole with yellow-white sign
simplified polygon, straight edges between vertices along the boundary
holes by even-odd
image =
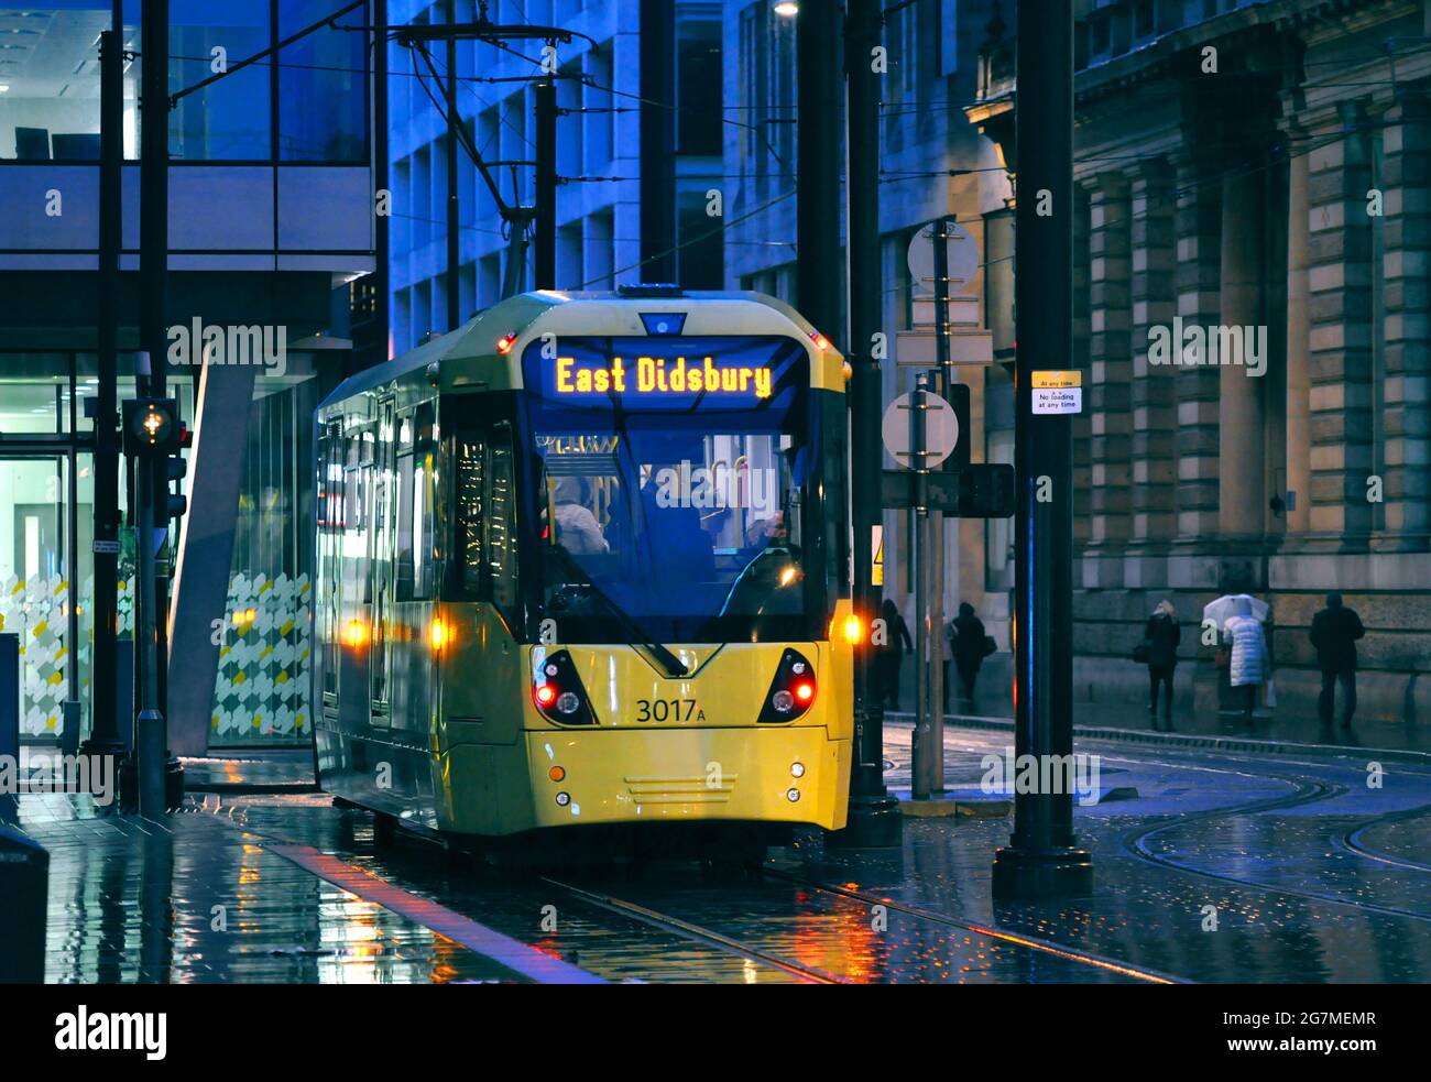
[[[1099,173],[1089,189],[1089,555],[1096,583],[1122,587],[1120,557],[1130,534],[1130,263],[1132,205],[1122,173]]]

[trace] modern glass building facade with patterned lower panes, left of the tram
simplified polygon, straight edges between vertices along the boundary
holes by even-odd
[[[127,322],[137,315],[143,40],[140,1],[120,7]],[[209,717],[215,744],[302,741],[311,731],[312,411],[351,366],[343,346],[358,305],[349,301],[372,295],[376,265],[372,7],[170,0],[167,322],[286,332],[285,366],[256,369],[246,409],[230,408],[215,422],[225,435],[209,441],[212,454],[242,464],[226,597],[203,613],[219,654]],[[93,703],[89,684],[94,464],[84,404],[97,384],[99,44],[110,20],[110,0],[23,9],[0,0],[0,634],[17,637],[20,728],[37,741],[76,739],[66,703],[79,704],[82,733],[99,710],[126,716],[132,688],[123,670],[132,657],[135,562],[124,531],[120,701]],[[312,26],[319,29],[243,64]],[[63,199],[53,215],[50,189]],[[135,328],[122,326],[120,341],[132,349]],[[120,355],[120,399],[135,395],[133,358]],[[172,366],[169,391],[199,431],[199,454],[209,454],[196,416],[199,371]],[[196,468],[202,464],[190,461],[182,488]],[[127,498],[122,475],[120,510]],[[173,554],[175,531],[166,544]]]

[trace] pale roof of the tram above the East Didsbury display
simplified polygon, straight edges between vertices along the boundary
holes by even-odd
[[[726,303],[713,305],[711,302]],[[698,303],[698,306],[693,308],[693,303]],[[764,318],[757,315],[761,308]],[[687,333],[731,333],[730,318],[740,309],[746,309],[756,318],[750,319],[748,325],[740,328],[738,332],[756,335],[800,333],[806,338],[817,333],[817,329],[784,301],[753,291],[683,291],[644,295],[638,291],[611,293],[541,289],[501,301],[474,315],[456,331],[349,376],[333,388],[332,394],[319,404],[319,409],[425,369],[434,361],[441,364],[444,386],[461,385],[468,382],[464,376],[477,374],[472,362],[491,362],[499,356],[504,361],[514,361],[521,355],[521,348],[527,345],[531,333],[561,332],[561,325],[580,328],[580,331],[574,329],[568,333],[643,338],[647,331],[641,322],[641,313],[687,312],[694,315],[704,312],[705,315],[695,319],[694,325],[688,316]],[[564,318],[560,321],[541,319],[544,315],[557,312]],[[600,318],[598,312],[601,312]],[[588,319],[590,323],[585,322]],[[537,326],[538,321],[542,322],[541,328]],[[707,321],[710,321],[710,326],[703,326]],[[548,323],[552,325],[548,326]],[[514,342],[511,352],[502,356],[497,352],[497,341],[507,335],[512,335]],[[843,364],[844,358],[833,346],[824,352],[827,362]]]

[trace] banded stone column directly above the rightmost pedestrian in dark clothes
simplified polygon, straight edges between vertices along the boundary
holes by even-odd
[[[1311,126],[1308,206],[1314,534],[1342,551],[1364,551],[1371,534],[1371,185],[1358,103],[1342,103],[1329,125]],[[1319,130],[1318,130],[1319,129]],[[1324,133],[1345,132],[1328,139]]]

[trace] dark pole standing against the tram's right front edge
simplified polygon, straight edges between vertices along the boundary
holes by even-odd
[[[867,633],[854,651],[854,763],[850,770],[849,826],[831,840],[846,846],[899,846],[903,819],[899,801],[884,787],[884,704],[879,696],[874,644],[869,631],[880,615],[881,588],[873,581],[874,531],[884,522],[880,489],[884,388],[874,355],[883,319],[880,104],[879,76],[870,63],[874,47],[880,44],[879,0],[849,0],[844,27],[851,601]]]

